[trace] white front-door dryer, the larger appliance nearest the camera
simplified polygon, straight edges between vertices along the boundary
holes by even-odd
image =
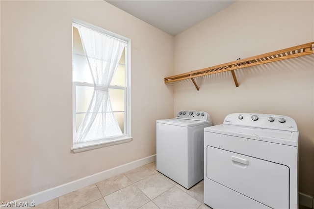
[[[234,113],[204,129],[204,203],[297,209],[298,129],[283,115]]]

